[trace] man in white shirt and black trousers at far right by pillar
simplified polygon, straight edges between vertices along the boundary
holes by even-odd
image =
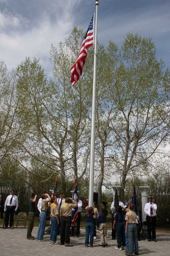
[[[148,239],[147,241],[157,242],[156,240],[156,209],[157,205],[154,204],[154,199],[149,198],[149,203],[145,204],[144,212],[146,213],[146,224],[147,224],[147,234]],[[151,237],[152,231],[152,237]]]

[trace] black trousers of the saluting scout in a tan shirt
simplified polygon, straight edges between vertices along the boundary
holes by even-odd
[[[70,228],[71,228],[71,217],[61,217],[60,223],[60,242],[70,243]]]

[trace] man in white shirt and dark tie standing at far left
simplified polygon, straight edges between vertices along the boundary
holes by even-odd
[[[9,221],[9,215],[10,215],[10,224],[9,227],[13,229],[13,222],[14,222],[14,212],[18,209],[18,198],[15,194],[15,190],[12,189],[11,195],[8,195],[5,201],[5,209],[6,212],[6,218],[5,218],[5,227],[6,229],[8,227],[8,221]]]

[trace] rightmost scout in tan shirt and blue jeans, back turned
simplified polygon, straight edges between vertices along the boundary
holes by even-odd
[[[136,212],[133,211],[135,208],[134,204],[129,205],[129,211],[126,213],[126,233],[128,233],[129,238],[129,252],[125,253],[127,256],[133,255],[133,247],[135,245],[135,253],[139,255],[139,247],[138,247],[138,233],[136,228]]]

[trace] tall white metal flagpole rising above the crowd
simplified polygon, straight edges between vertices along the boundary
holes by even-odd
[[[94,193],[94,148],[95,148],[96,57],[97,57],[98,5],[99,5],[99,0],[96,0],[96,23],[95,23],[95,42],[94,42],[94,74],[93,74],[93,100],[92,100],[92,113],[91,113],[91,151],[90,151],[88,207],[93,207],[93,193]]]

